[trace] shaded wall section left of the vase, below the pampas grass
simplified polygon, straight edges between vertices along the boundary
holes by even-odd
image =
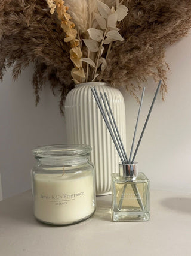
[[[30,188],[30,168],[35,158],[32,148],[65,143],[64,118],[58,97],[45,88],[35,107],[31,85],[32,67],[13,83],[11,71],[0,85],[0,173],[3,198]]]

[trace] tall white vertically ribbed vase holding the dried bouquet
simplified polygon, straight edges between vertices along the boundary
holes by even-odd
[[[67,143],[88,144],[93,148],[91,162],[96,168],[96,193],[106,195],[110,194],[111,174],[118,172],[120,160],[90,86],[106,92],[126,148],[124,97],[106,83],[90,82],[76,85],[65,101]]]

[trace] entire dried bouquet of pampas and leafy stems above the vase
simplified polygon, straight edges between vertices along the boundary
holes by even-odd
[[[0,78],[13,66],[16,79],[32,62],[36,103],[48,80],[53,93],[61,91],[61,111],[75,83],[91,80],[125,86],[136,97],[152,76],[162,80],[164,97],[165,47],[190,27],[189,0],[2,0]]]

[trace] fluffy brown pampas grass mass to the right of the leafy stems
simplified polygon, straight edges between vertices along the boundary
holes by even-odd
[[[112,86],[135,90],[147,77],[162,79],[162,97],[167,92],[165,48],[184,37],[191,28],[190,0],[129,0],[120,28],[125,41],[112,46],[107,68],[100,80]]]

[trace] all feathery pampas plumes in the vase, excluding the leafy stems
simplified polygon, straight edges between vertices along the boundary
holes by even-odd
[[[94,10],[94,0],[66,0],[69,13],[81,36],[90,26],[88,9]],[[115,0],[104,1],[109,6]],[[125,86],[136,97],[141,82],[152,76],[162,79],[162,96],[167,92],[165,48],[184,37],[191,27],[190,0],[128,0],[123,1],[128,15],[118,23],[125,41],[112,43],[107,66],[99,80],[111,86]],[[86,6],[87,5],[87,6]],[[54,6],[53,6],[54,8]],[[94,13],[94,11],[92,12]],[[92,21],[92,20],[91,20]],[[47,81],[51,89],[61,92],[63,100],[74,83],[69,44],[56,14],[51,15],[45,0],[1,0],[0,3],[0,79],[7,67],[13,66],[13,78],[30,62],[34,65],[33,87],[36,103],[39,91]],[[107,50],[107,47],[104,51]],[[87,49],[83,47],[83,52]],[[105,52],[106,53],[106,52]],[[84,57],[84,56],[83,56]]]

